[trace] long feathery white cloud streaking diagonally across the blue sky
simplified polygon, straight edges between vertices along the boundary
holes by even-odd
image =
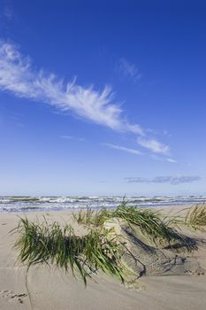
[[[127,74],[136,76],[133,66],[127,67]],[[24,57],[12,43],[0,41],[0,89],[16,97],[31,99],[55,107],[58,111],[70,112],[81,119],[111,128],[120,133],[132,133],[141,137],[139,144],[151,152],[166,154],[168,146],[156,140],[147,140],[147,130],[126,119],[123,109],[114,102],[111,88],[103,91],[93,87],[85,88],[76,81],[65,82],[56,74],[35,70],[31,58]],[[116,149],[139,154],[140,151],[116,146]],[[114,147],[113,147],[114,148]]]

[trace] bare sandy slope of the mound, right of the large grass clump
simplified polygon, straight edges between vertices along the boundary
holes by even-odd
[[[204,275],[205,270],[194,257],[203,241],[197,237],[185,236],[182,243],[170,246],[154,246],[141,234],[113,219],[104,223],[105,229],[111,229],[111,237],[119,236],[119,242],[125,244],[123,260],[134,270],[137,277],[142,275]],[[159,245],[159,244],[156,244]]]

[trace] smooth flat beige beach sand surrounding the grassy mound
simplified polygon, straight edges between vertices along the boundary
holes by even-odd
[[[0,213],[0,310],[205,310],[206,275],[142,276],[141,291],[126,289],[110,276],[98,275],[85,289],[80,280],[54,267],[27,267],[17,263],[15,213]],[[29,219],[45,215],[51,221],[71,221],[69,212],[27,213]],[[205,237],[206,236],[202,236]],[[195,259],[206,269],[204,246]]]

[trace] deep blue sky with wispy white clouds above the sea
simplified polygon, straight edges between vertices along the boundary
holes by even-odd
[[[203,1],[0,1],[0,194],[206,193]]]

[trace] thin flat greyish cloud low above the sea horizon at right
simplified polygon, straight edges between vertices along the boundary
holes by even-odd
[[[200,181],[201,177],[199,175],[166,175],[166,176],[156,176],[154,178],[144,178],[144,177],[126,177],[125,180],[128,183],[169,183],[172,185],[178,185],[181,183]]]

